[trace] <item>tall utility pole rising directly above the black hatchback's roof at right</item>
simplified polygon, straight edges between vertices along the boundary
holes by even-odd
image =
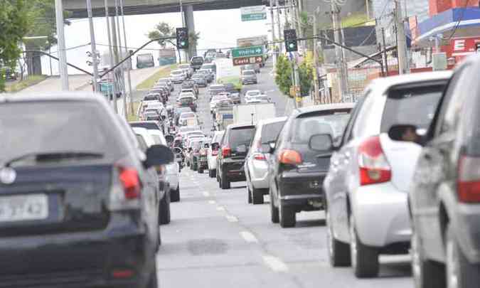
[[[340,43],[340,9],[336,5],[335,1],[331,1],[331,16],[334,24],[334,40],[336,43]],[[339,46],[335,46],[336,54],[336,74],[338,78],[338,92],[340,92],[341,102],[345,102],[346,95],[348,94],[348,81],[346,75],[346,66],[344,65],[345,59],[343,58],[343,49]]]

